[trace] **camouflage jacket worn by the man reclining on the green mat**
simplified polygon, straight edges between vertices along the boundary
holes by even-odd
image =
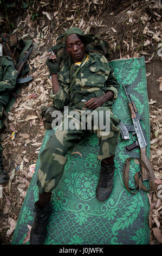
[[[74,72],[78,68],[74,65]],[[116,80],[113,69],[108,60],[102,54],[89,53],[89,59],[77,73],[72,90],[70,86],[70,63],[64,64],[58,74],[60,90],[55,95],[51,92],[54,106],[62,109],[63,106],[78,106],[82,100],[88,101],[92,97],[100,97],[108,90],[114,93],[113,99],[107,101],[103,106],[112,108],[113,101],[118,95],[119,83]]]

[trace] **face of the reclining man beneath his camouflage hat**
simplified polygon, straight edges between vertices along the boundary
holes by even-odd
[[[77,34],[71,34],[66,39],[67,53],[73,58],[74,62],[81,62],[85,57],[86,45],[80,40]]]

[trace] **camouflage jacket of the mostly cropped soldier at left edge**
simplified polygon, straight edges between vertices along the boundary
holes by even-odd
[[[0,57],[0,103],[7,105],[9,94],[14,90],[17,71],[12,59],[8,56]]]

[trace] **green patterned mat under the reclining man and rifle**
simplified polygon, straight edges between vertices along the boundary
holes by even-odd
[[[135,105],[141,115],[146,137],[148,139],[147,156],[150,154],[150,121],[146,86],[145,59],[113,60],[119,83],[129,83],[128,92],[131,93]],[[132,124],[127,106],[127,99],[122,89],[114,103],[113,112],[123,123]],[[53,130],[47,130],[41,150],[46,145]],[[126,145],[133,143],[135,137],[129,141],[121,141],[116,149],[114,186],[111,197],[105,202],[95,198],[95,188],[98,183],[100,166],[98,164],[98,139],[95,135],[85,138],[73,151],[67,154],[68,161],[64,174],[52,194],[53,212],[50,216],[47,245],[145,245],[149,243],[147,193],[129,193],[122,181],[122,169],[127,157],[139,157],[140,150],[131,152]],[[79,151],[79,154],[72,152]],[[38,200],[36,186],[37,170],[40,166],[38,157],[35,174],[31,180],[27,195],[17,221],[12,244],[22,245],[28,233],[27,225],[32,225],[35,212],[34,203]],[[133,175],[139,170],[139,164],[132,161],[130,184],[134,187]],[[145,181],[148,187],[148,182]],[[26,243],[29,244],[29,241]]]

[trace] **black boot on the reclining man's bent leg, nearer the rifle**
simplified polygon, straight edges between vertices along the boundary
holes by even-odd
[[[111,164],[102,164],[98,186],[96,187],[96,198],[99,201],[105,201],[113,189],[113,177],[115,172],[114,162]]]

